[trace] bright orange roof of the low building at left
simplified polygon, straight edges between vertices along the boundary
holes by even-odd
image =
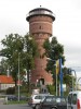
[[[13,81],[12,76],[0,75],[0,83],[3,83],[3,84],[14,84],[14,81]]]

